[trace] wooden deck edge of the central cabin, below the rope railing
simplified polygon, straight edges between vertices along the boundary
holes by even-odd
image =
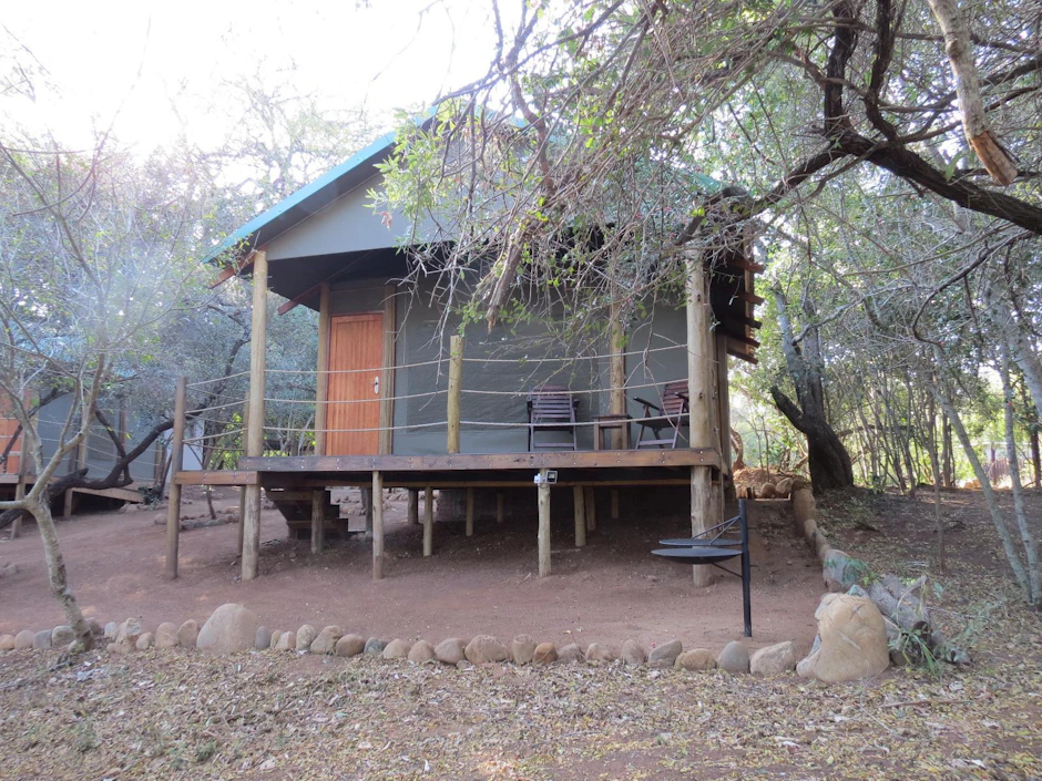
[[[239,460],[236,471],[178,472],[178,485],[369,485],[387,487],[531,486],[539,470],[555,470],[558,485],[688,485],[692,466],[719,469],[709,448],[677,450],[459,453],[453,455],[262,456]]]

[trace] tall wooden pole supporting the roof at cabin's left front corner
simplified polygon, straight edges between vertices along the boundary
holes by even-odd
[[[267,347],[267,253],[258,249],[253,261],[253,320],[249,331],[249,428],[246,455],[264,454],[264,382]],[[246,486],[243,508],[243,582],[257,577],[260,568],[260,485]]]

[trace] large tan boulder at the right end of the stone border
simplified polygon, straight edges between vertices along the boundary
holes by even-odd
[[[797,666],[800,677],[837,684],[877,676],[890,665],[886,621],[871,599],[826,594],[814,617],[821,643]]]

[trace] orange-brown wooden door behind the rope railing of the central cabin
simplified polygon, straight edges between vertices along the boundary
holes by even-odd
[[[326,455],[375,455],[379,451],[382,366],[382,314],[330,319]]]

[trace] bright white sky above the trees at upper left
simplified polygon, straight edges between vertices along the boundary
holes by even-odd
[[[112,125],[142,150],[182,132],[212,147],[229,122],[215,95],[241,74],[289,79],[329,110],[364,104],[378,116],[480,76],[490,30],[484,0],[10,3],[0,64],[34,61],[57,89],[0,99],[0,117],[70,145]]]

